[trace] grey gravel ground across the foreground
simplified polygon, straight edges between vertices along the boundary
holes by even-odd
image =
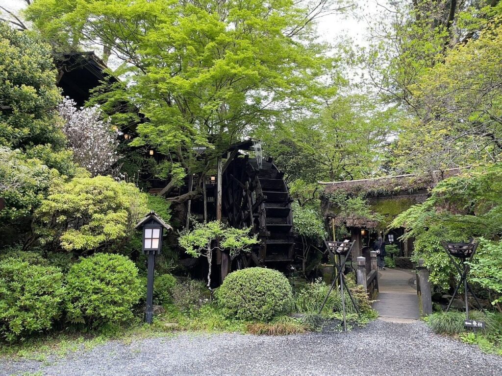
[[[180,334],[130,345],[110,341],[49,360],[0,359],[0,375],[502,375],[502,357],[435,335],[421,322],[380,320],[349,333]]]

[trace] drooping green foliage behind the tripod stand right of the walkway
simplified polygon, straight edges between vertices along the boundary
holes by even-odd
[[[406,227],[406,238],[415,238],[414,260],[424,258],[430,281],[448,287],[456,271],[441,241],[468,241],[484,237],[472,264],[471,278],[490,289],[493,304],[499,303],[500,252],[497,241],[488,241],[502,231],[502,165],[486,164],[465,170],[439,182],[431,197],[399,215],[392,227]]]

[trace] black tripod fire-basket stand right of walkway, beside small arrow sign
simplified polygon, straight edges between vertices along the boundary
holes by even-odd
[[[484,312],[484,308],[479,304],[479,301],[477,299],[476,294],[472,291],[470,288],[469,284],[467,283],[467,274],[469,273],[469,262],[472,261],[472,258],[474,257],[474,253],[476,252],[477,246],[479,243],[474,242],[474,240],[471,240],[469,243],[446,243],[446,242],[441,242],[443,245],[443,248],[446,251],[446,254],[450,257],[451,262],[455,266],[455,269],[457,270],[458,274],[460,275],[460,280],[458,281],[455,290],[453,291],[453,295],[450,299],[450,302],[448,303],[448,307],[446,307],[446,312],[451,307],[451,304],[453,303],[453,299],[455,299],[455,296],[457,295],[458,289],[464,284],[464,294],[465,294],[465,318],[468,320],[469,319],[469,302],[467,299],[467,292],[470,291],[472,296],[474,297],[474,300],[476,301],[478,307]],[[456,261],[455,257],[459,259],[460,261]],[[468,261],[468,262],[467,262]],[[464,269],[462,271],[461,266],[463,265]]]

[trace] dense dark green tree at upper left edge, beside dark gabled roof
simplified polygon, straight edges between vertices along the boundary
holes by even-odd
[[[0,72],[0,145],[62,149],[65,138],[55,111],[61,95],[51,47],[0,22]]]

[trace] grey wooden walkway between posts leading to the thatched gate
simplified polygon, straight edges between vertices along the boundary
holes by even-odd
[[[408,322],[420,317],[416,289],[408,281],[413,272],[404,270],[379,270],[380,293],[373,308],[386,321]]]

